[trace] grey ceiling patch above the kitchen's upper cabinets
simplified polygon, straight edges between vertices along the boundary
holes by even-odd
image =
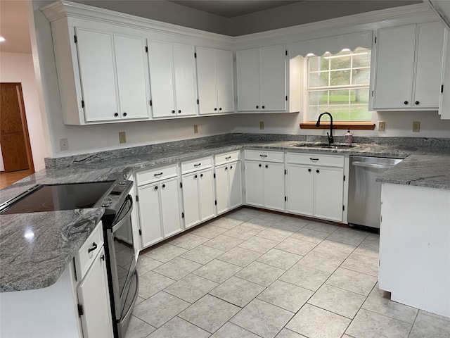
[[[212,13],[215,15],[223,16],[225,18],[234,18],[236,16],[264,11],[266,9],[276,8],[280,6],[295,4],[300,1],[285,1],[285,0],[203,0],[203,1],[172,1],[174,4],[186,6],[199,11]]]

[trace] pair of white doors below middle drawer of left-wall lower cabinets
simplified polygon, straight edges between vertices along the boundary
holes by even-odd
[[[214,182],[212,168],[182,177],[184,223],[187,229],[214,217]]]

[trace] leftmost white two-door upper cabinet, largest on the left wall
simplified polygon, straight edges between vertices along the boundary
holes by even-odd
[[[82,27],[75,35],[82,111],[70,124],[148,120],[145,40]]]

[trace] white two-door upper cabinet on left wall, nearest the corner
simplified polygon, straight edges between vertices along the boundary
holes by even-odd
[[[234,111],[233,53],[196,47],[200,114]]]

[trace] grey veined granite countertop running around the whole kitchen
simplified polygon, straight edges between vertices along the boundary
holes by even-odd
[[[69,160],[58,159],[65,165],[63,168],[46,168],[2,189],[0,204],[36,184],[123,179],[137,170],[238,149],[406,158],[399,165],[383,173],[380,182],[450,189],[450,147],[423,149],[416,146],[361,143],[346,149],[295,146],[302,142],[304,141],[292,139],[239,142],[231,137],[204,144],[189,144],[189,146],[184,144],[172,149],[154,146],[150,150],[143,149],[134,153],[125,149],[123,154],[117,151],[114,156],[104,154],[72,156]],[[102,215],[103,208],[0,215],[0,292],[39,289],[56,282]],[[26,232],[33,232],[34,236],[24,237]]]

